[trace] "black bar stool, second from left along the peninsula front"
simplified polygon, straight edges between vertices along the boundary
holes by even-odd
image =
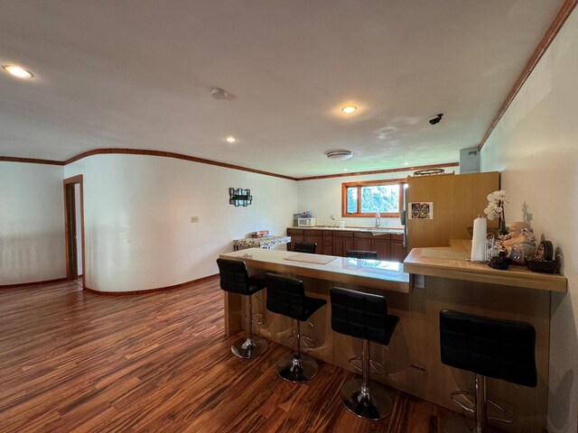
[[[305,296],[303,281],[274,273],[265,274],[267,309],[292,318],[293,351],[277,362],[277,373],[290,382],[307,382],[317,374],[317,362],[301,354],[300,321],[311,318],[327,302],[324,299]]]

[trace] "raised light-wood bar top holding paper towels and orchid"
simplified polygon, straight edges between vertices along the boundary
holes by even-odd
[[[565,293],[568,281],[563,275],[531,272],[526,267],[510,265],[507,271],[493,269],[486,263],[473,263],[468,245],[471,241],[452,240],[451,246],[414,248],[404,261],[404,271],[453,280],[487,282],[527,289]]]

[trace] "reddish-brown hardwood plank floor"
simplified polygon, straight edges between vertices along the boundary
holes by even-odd
[[[455,416],[390,390],[388,419],[359,419],[339,400],[350,372],[320,362],[312,382],[284,382],[288,348],[247,361],[234,339],[217,279],[119,297],[75,282],[0,290],[0,431],[433,433]]]

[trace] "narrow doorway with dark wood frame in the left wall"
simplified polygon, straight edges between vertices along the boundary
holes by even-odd
[[[64,229],[66,235],[66,278],[82,277],[84,287],[84,200],[82,175],[64,180]]]

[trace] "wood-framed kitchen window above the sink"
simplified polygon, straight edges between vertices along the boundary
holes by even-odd
[[[342,217],[399,217],[404,208],[405,179],[341,184]]]

